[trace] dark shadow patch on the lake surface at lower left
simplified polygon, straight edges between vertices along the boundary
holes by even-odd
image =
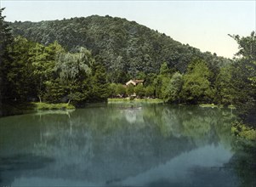
[[[24,171],[41,169],[53,162],[52,158],[32,154],[0,157],[0,186],[10,186]]]

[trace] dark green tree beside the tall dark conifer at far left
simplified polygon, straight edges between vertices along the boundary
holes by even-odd
[[[36,57],[33,53],[35,42],[24,37],[14,38],[9,46],[9,63],[4,65],[9,99],[18,99],[21,102],[37,97],[36,81],[33,76],[32,62]]]

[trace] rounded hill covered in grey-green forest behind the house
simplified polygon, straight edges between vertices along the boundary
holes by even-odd
[[[205,59],[210,66],[229,61],[216,54],[202,53],[134,21],[108,15],[37,23],[16,21],[9,25],[14,36],[20,35],[44,45],[57,41],[69,51],[79,46],[88,48],[105,65],[111,82],[138,77],[141,71],[145,74],[158,73],[164,61],[170,68],[181,72],[194,57]]]

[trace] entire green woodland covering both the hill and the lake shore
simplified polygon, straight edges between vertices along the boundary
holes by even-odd
[[[256,35],[230,35],[236,59],[202,53],[134,21],[98,15],[1,25],[3,103],[43,101],[84,105],[117,95],[174,104],[236,105],[255,112]],[[125,88],[129,79],[144,79]],[[248,117],[251,116],[251,117]]]

